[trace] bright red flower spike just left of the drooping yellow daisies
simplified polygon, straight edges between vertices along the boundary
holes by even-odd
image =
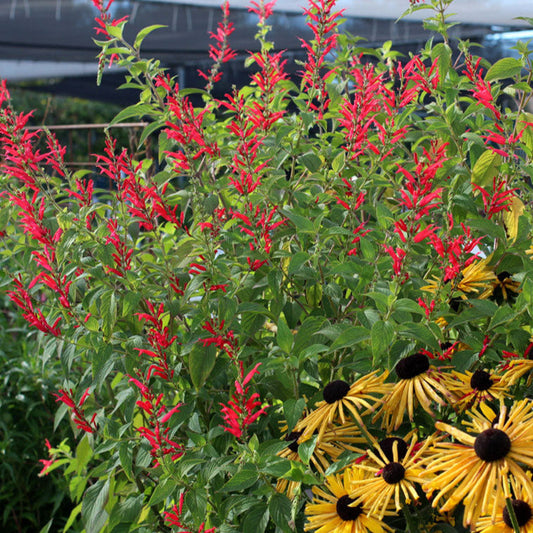
[[[235,380],[235,393],[231,395],[231,400],[227,404],[221,403],[221,413],[226,425],[221,425],[224,431],[231,433],[237,438],[242,437],[248,426],[253,424],[261,415],[266,414],[266,410],[261,407],[262,402],[259,400],[259,394],[249,394],[249,387],[246,385],[250,382],[254,374],[258,374],[257,368],[261,363],[257,363],[254,368],[244,376],[244,368],[241,361],[240,380]]]

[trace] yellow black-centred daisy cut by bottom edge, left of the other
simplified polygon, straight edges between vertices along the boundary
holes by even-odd
[[[316,533],[386,533],[393,530],[370,516],[364,505],[354,505],[348,487],[362,479],[361,470],[345,470],[326,478],[324,489],[313,487],[313,501],[305,507],[305,531]],[[390,515],[392,513],[387,513]]]

